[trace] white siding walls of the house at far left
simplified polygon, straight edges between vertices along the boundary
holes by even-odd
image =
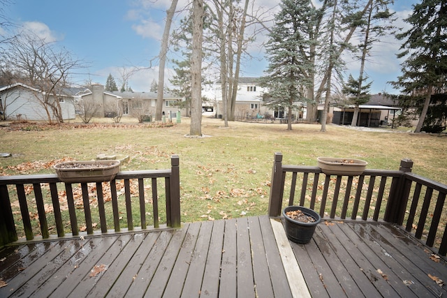
[[[36,98],[34,91],[31,91],[25,87],[12,87],[1,91],[1,98],[3,105],[6,104],[7,119],[22,119],[31,121],[48,120],[47,113],[39,100]],[[61,110],[64,120],[75,119],[73,98],[64,97],[64,103],[61,103]],[[50,115],[51,117],[53,116],[52,113]]]

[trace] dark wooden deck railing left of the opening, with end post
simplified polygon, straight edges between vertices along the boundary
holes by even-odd
[[[161,179],[164,179],[162,187],[165,188],[166,209],[159,207],[159,198],[163,196],[163,193],[158,191],[157,181]],[[145,184],[145,181],[149,185]],[[123,189],[117,190],[117,184],[122,185]],[[147,189],[152,191],[152,195],[145,195]],[[125,201],[125,207],[121,207],[121,209],[119,194],[124,194]],[[95,200],[91,200],[92,197],[95,197]],[[80,198],[79,204],[82,204],[82,208],[77,208],[78,202],[75,198]],[[108,216],[109,212],[105,209],[105,198],[111,201],[110,213],[112,217]],[[132,204],[135,198],[138,198],[138,204]],[[66,206],[64,209],[68,209],[68,212],[62,210],[61,202]],[[18,204],[18,206],[13,208],[11,203]],[[92,219],[94,218],[92,206],[95,207],[95,210],[97,206],[99,225]],[[30,208],[35,208],[36,214],[31,212]],[[49,228],[48,225],[48,209],[52,210],[50,214],[54,214],[54,218],[51,219],[52,221],[54,219],[57,236],[51,234],[52,228]],[[79,212],[80,209],[83,210],[83,214]],[[152,214],[147,211],[148,209],[152,211]],[[135,220],[140,223],[142,229],[146,229],[147,214],[152,215],[153,227],[160,228],[165,226],[159,223],[161,212],[166,215],[166,227],[178,228],[180,226],[178,156],[171,157],[170,169],[119,172],[110,182],[63,183],[57,174],[0,177],[0,247],[17,241],[17,225],[23,227],[27,240],[32,240],[37,235],[39,238],[49,239],[50,237],[65,237],[66,225],[70,225],[72,236],[78,236],[80,231],[84,230],[87,234],[94,234],[98,232],[95,231],[96,227],[101,227],[101,233],[109,232],[108,228],[111,226],[113,226],[113,232],[120,232],[122,230],[121,221],[124,217],[126,218],[126,223],[124,223],[126,230],[134,230]],[[66,215],[67,213],[68,215]],[[122,214],[126,216],[122,216]],[[135,218],[135,214],[138,218]],[[36,216],[39,226],[37,231],[31,223],[31,217],[36,218]],[[82,220],[82,224],[78,219]],[[69,224],[67,224],[68,221]]]

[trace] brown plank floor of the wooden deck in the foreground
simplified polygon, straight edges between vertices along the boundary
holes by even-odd
[[[445,260],[393,225],[325,221],[309,244],[281,237],[260,216],[8,246],[0,297],[302,297],[291,251],[312,297],[447,294],[433,280],[447,281]]]

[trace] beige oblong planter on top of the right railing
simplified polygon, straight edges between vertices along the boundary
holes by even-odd
[[[361,175],[368,164],[353,158],[318,157],[316,160],[321,171],[328,175]]]

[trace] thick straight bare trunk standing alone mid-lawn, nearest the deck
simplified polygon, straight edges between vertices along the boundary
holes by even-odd
[[[202,40],[203,0],[193,0],[193,40],[191,55],[191,126],[189,135],[202,135]]]

